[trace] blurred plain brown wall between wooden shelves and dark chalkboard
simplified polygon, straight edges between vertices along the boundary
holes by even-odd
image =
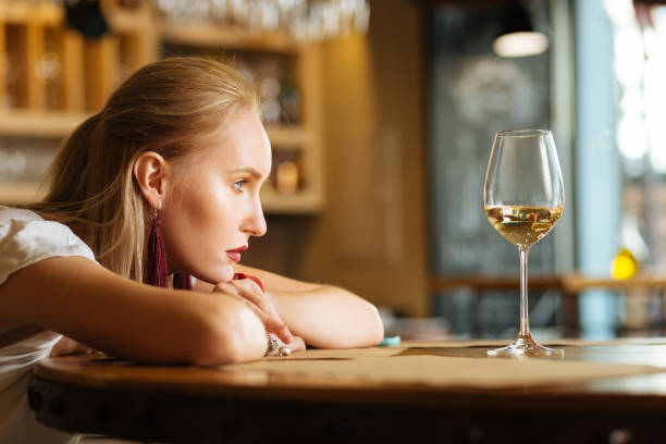
[[[429,313],[419,9],[371,1],[370,30],[323,44],[325,210],[271,217],[246,263]]]

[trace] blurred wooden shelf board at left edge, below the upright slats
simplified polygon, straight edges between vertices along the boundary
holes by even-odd
[[[18,137],[66,137],[88,118],[85,112],[2,111],[0,134]]]

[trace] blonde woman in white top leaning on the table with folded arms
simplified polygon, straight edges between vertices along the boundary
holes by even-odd
[[[49,354],[206,366],[380,342],[358,296],[238,264],[270,169],[254,88],[212,60],[145,66],[72,134],[45,200],[0,207],[0,442],[71,437],[26,406]]]

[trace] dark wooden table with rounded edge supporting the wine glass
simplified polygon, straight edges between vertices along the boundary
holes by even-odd
[[[564,362],[489,358],[486,349],[498,344],[421,342],[390,349],[308,350],[289,357],[289,366],[300,361],[347,368],[367,361],[390,369],[407,362],[397,359],[416,356],[454,365],[473,362],[486,372],[497,369],[498,383],[490,386],[484,381],[447,385],[446,375],[440,381],[443,385],[424,383],[418,377],[427,369],[418,367],[396,382],[283,373],[278,371],[286,368],[281,358],[235,370],[139,366],[103,355],[51,358],[36,367],[29,404],[37,420],[49,427],[150,442],[620,444],[666,440],[666,338],[565,341],[560,342]],[[506,370],[507,366],[581,362],[606,363],[595,366],[599,369],[652,366],[653,372],[516,383],[515,374]],[[508,385],[503,386],[503,378]]]

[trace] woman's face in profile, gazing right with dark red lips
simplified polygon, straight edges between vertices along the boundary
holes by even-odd
[[[259,189],[271,170],[270,141],[257,116],[240,110],[183,163],[162,206],[169,271],[229,282],[249,237],[266,233]]]

